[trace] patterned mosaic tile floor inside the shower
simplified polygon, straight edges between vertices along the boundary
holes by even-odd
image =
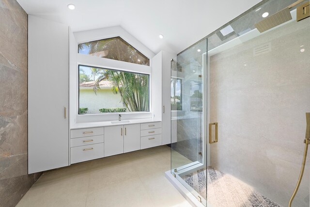
[[[182,178],[205,199],[208,197],[213,207],[281,207],[236,178],[211,166]]]

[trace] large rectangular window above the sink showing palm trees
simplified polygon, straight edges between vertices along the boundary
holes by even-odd
[[[78,114],[149,111],[149,74],[78,66]]]

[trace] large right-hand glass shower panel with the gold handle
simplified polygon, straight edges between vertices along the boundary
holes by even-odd
[[[223,26],[230,33],[207,36],[208,118],[218,123],[208,144],[212,207],[287,207],[294,192],[310,112],[310,17],[296,21],[294,6],[279,26],[261,33],[255,24],[295,1],[263,1]],[[305,166],[292,207],[310,206],[310,153]]]

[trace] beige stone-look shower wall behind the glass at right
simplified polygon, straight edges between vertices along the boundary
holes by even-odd
[[[287,206],[299,176],[310,112],[310,18],[211,57],[211,165]],[[310,153],[294,199],[309,207]]]

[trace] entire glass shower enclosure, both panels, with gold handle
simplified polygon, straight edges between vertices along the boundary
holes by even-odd
[[[202,206],[288,206],[310,112],[309,0],[295,1],[264,0],[171,61],[171,174]],[[292,207],[310,206],[306,158]]]

